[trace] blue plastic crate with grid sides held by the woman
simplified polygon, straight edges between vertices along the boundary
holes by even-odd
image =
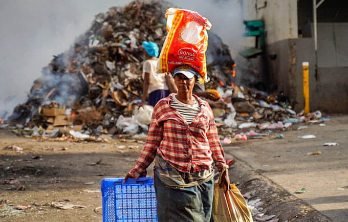
[[[157,221],[154,180],[107,178],[101,180],[103,221]]]

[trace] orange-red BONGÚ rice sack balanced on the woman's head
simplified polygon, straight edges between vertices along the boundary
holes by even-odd
[[[178,65],[188,64],[206,80],[209,20],[197,12],[173,8],[167,9],[165,17],[168,34],[157,64],[158,72],[170,72]]]

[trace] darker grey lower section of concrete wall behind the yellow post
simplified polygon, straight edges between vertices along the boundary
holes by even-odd
[[[278,92],[283,91],[290,98],[297,112],[303,109],[302,62],[308,61],[311,111],[348,113],[348,67],[319,68],[316,75],[313,38],[274,42],[267,52],[276,55],[268,62]]]

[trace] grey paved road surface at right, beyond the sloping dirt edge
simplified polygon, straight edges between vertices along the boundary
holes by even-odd
[[[330,118],[326,126],[280,132],[284,139],[273,134],[270,139],[249,140],[225,150],[333,221],[348,221],[348,116]],[[309,134],[317,138],[297,138]],[[323,146],[325,142],[339,145]],[[307,156],[315,151],[322,154]],[[295,193],[302,188],[307,191]]]

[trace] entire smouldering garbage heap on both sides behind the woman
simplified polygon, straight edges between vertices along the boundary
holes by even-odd
[[[10,125],[18,135],[57,140],[98,140],[95,136],[146,132],[147,125],[134,115],[142,96],[145,56],[141,43],[163,45],[164,13],[169,7],[164,1],[134,1],[96,15],[91,28],[42,69],[27,102],[17,105],[7,124],[0,127]],[[234,61],[228,47],[212,32],[206,57],[210,78],[206,88],[222,96],[209,103],[225,143],[262,137],[265,130],[319,118],[296,114],[285,96],[234,86]]]

